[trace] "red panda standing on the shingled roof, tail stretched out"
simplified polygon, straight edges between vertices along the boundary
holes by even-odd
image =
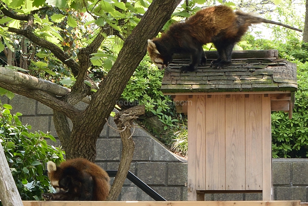
[[[277,24],[299,32],[302,30],[286,24],[262,19],[254,14],[233,11],[229,6],[210,6],[197,11],[184,22],[174,23],[160,38],[148,40],[148,53],[158,68],[164,69],[172,61],[174,53],[190,54],[188,66],[182,66],[180,72],[196,71],[197,66],[206,62],[202,45],[213,42],[218,58],[213,60],[213,68],[222,68],[231,64],[231,54],[235,43],[256,23]]]

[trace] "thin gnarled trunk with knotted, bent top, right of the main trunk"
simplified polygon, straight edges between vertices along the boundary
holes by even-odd
[[[121,131],[120,136],[123,144],[120,165],[115,179],[112,183],[107,201],[116,201],[120,195],[123,183],[126,179],[130,164],[133,159],[135,143],[132,138],[131,128],[133,120],[144,114],[144,105],[132,107],[130,109],[120,111],[114,117],[115,124]]]

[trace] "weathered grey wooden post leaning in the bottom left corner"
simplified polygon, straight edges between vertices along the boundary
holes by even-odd
[[[0,200],[3,206],[23,206],[0,143]]]

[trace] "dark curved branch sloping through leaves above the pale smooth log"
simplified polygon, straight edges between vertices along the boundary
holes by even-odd
[[[6,27],[4,25],[2,25],[3,27]],[[29,29],[23,30],[23,29],[16,29],[16,28],[12,28],[12,27],[7,27],[9,32],[13,32],[16,34],[20,34],[23,35],[25,37],[27,37],[30,41],[32,41],[33,43],[43,47],[43,48],[47,48],[49,49],[54,55],[55,57],[57,57],[60,61],[63,62],[63,64],[67,65],[69,68],[71,68],[74,76],[78,75],[78,70],[79,70],[79,65],[76,61],[74,61],[73,59],[71,59],[71,57],[69,55],[67,55],[65,52],[63,52],[63,50],[58,47],[57,45],[39,38],[38,36],[35,36],[34,33],[32,33]]]

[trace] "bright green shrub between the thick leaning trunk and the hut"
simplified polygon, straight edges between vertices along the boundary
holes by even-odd
[[[119,101],[117,105],[121,107],[144,104],[146,115],[157,116],[166,130],[168,127],[176,127],[177,124],[174,123],[179,120],[171,97],[160,91],[163,75],[164,72],[146,56],[122,93],[124,101]]]

